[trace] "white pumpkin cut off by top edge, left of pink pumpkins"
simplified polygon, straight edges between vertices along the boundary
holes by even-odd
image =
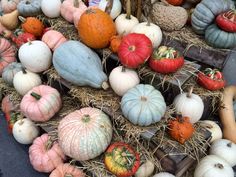
[[[61,0],[42,0],[41,9],[49,18],[56,18],[60,16]]]

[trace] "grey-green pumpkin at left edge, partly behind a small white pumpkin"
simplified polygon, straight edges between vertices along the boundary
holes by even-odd
[[[9,86],[13,86],[13,78],[15,74],[21,71],[22,64],[17,62],[12,62],[3,69],[2,79]]]

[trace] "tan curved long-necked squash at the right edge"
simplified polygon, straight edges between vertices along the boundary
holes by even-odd
[[[236,99],[236,86],[227,86],[223,92],[223,100],[220,105],[219,116],[223,126],[223,137],[236,143],[235,114],[233,100]]]

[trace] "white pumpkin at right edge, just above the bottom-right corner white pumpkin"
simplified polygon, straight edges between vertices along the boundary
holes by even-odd
[[[229,163],[236,165],[236,144],[227,139],[215,140],[210,147],[210,154],[217,155]]]

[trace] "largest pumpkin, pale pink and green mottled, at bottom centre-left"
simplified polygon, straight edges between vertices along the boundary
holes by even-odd
[[[58,126],[58,139],[63,152],[84,161],[103,153],[112,139],[112,124],[101,110],[85,107],[64,117]]]

